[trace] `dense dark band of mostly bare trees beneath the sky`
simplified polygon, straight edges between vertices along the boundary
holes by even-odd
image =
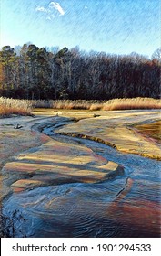
[[[0,95],[18,99],[109,100],[160,96],[161,48],[142,55],[33,44],[0,50]]]

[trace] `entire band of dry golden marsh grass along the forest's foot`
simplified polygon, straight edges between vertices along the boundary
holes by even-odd
[[[161,109],[161,100],[153,98],[114,99],[110,101],[56,100],[27,101],[0,97],[0,116],[30,115],[33,108],[65,110],[116,111],[135,109]]]

